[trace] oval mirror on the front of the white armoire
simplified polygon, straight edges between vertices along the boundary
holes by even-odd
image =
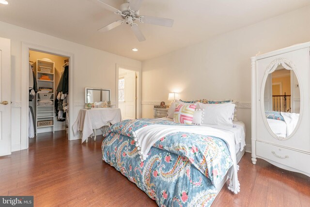
[[[263,93],[267,124],[279,140],[285,140],[292,134],[300,111],[300,88],[294,67],[284,63],[284,68],[282,64],[267,69]]]

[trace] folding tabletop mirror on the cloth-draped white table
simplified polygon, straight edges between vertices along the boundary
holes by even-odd
[[[110,102],[110,89],[85,88],[85,103]]]

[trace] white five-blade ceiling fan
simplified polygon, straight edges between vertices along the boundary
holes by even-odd
[[[140,42],[142,42],[145,41],[145,37],[143,33],[140,31],[138,24],[135,23],[136,20],[140,21],[141,23],[155,24],[165,27],[172,27],[173,25],[174,21],[173,19],[166,19],[155,16],[140,16],[139,9],[142,0],[125,0],[125,3],[121,5],[120,10],[110,6],[109,4],[106,4],[103,0],[92,0],[92,1],[123,18],[123,20],[116,20],[111,24],[99,29],[98,30],[99,32],[107,32],[126,22],[126,24],[130,26],[132,32],[134,32],[134,34],[136,35],[137,39]]]

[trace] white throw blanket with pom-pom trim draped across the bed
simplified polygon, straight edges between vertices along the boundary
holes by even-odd
[[[170,126],[170,125],[150,125],[142,127],[133,132],[134,141],[138,147],[140,159],[145,160],[148,152],[158,140],[171,133],[187,132],[206,136],[213,136],[222,139],[227,144],[233,160],[233,168],[229,170],[230,184],[228,189],[237,194],[240,191],[238,181],[238,166],[235,153],[235,141],[233,133],[222,131],[212,127],[202,126]]]

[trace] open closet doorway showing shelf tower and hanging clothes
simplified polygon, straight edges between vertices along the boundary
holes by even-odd
[[[31,142],[42,136],[53,139],[53,133],[62,130],[68,139],[69,63],[69,57],[29,50],[27,120]]]

